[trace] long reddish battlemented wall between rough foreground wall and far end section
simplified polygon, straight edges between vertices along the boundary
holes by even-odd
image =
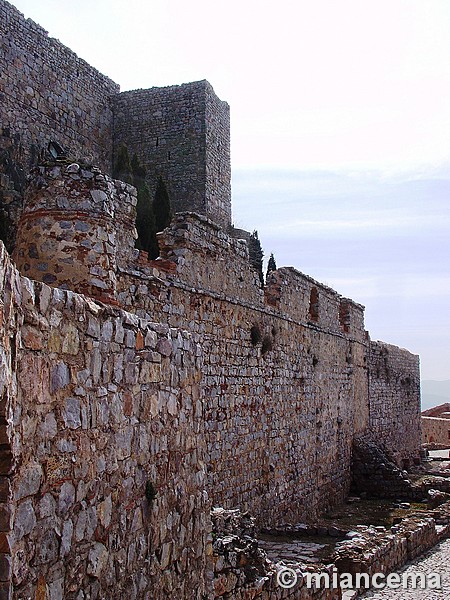
[[[245,245],[198,215],[178,215],[160,238],[162,259],[151,265],[172,268],[122,273],[117,297],[201,336],[213,503],[267,524],[343,500],[355,429],[368,419],[362,331],[340,331],[337,310],[333,327],[292,318],[289,303],[297,317],[305,301],[292,289],[310,282],[293,270],[279,290],[285,312],[265,304]]]

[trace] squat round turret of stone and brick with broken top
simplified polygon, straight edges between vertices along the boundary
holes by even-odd
[[[13,258],[21,273],[115,303],[134,255],[136,190],[77,163],[31,172]]]

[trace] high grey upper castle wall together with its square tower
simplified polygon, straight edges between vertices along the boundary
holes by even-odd
[[[120,94],[6,0],[0,34],[0,237],[10,251],[26,175],[50,140],[106,173],[125,144],[145,165],[152,194],[162,177],[175,211],[229,228],[230,109],[207,81]]]

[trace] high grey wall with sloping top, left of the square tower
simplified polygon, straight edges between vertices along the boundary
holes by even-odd
[[[0,148],[25,170],[53,139],[109,172],[119,86],[0,0]]]

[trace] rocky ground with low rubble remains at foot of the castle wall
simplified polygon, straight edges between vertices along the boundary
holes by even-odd
[[[349,497],[344,505],[315,524],[283,523],[257,531],[250,516],[217,509],[213,515],[216,597],[241,598],[243,588],[247,593],[251,589],[252,598],[437,600],[449,597],[450,578],[446,575],[446,566],[450,541],[446,538],[450,534],[450,495],[437,488],[447,489],[450,462],[442,459],[425,462],[408,473],[408,479],[418,489],[426,490],[421,502],[405,498],[367,498],[363,494],[363,497]],[[433,482],[436,489],[431,487]],[[443,541],[436,546],[439,540]],[[418,558],[426,551],[423,559]],[[409,566],[403,567],[408,561]],[[298,574],[301,588],[294,587],[288,596],[276,585],[277,570],[284,567]],[[443,589],[401,589],[399,595],[395,595],[397,590],[386,589],[367,592],[364,596],[357,596],[355,591],[341,596],[340,591],[333,595],[322,590],[319,595],[305,595],[302,574],[325,572],[330,568],[339,573],[362,572],[370,576],[379,572],[401,573],[403,568],[406,572],[408,569],[437,572]],[[359,593],[364,591],[361,588]]]

